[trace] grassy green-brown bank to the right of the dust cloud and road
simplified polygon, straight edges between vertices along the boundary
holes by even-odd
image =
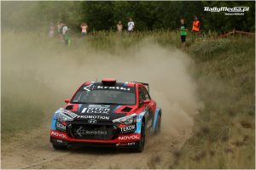
[[[195,42],[195,78],[205,108],[178,168],[255,168],[255,42],[231,37]]]

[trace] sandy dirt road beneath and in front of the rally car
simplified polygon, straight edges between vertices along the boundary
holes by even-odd
[[[168,168],[173,151],[189,138],[189,129],[180,136],[163,132],[149,137],[143,153],[114,148],[73,146],[53,150],[49,143],[49,120],[43,128],[20,133],[2,144],[2,168]]]

